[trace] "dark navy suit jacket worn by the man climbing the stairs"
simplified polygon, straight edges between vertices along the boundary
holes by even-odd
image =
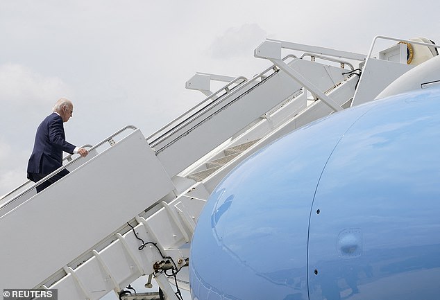
[[[48,175],[60,168],[62,152],[72,154],[75,149],[75,145],[68,143],[65,139],[62,118],[53,112],[38,126],[32,155],[28,162],[28,173]]]

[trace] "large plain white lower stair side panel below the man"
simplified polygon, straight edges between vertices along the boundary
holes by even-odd
[[[0,217],[0,290],[35,287],[172,189],[136,130]]]

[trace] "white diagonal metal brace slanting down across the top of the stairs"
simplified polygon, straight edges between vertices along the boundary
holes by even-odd
[[[332,100],[332,98],[325,95],[322,91],[315,87],[313,83],[310,82],[310,80],[307,80],[307,78],[302,76],[301,73],[299,73],[292,67],[292,65],[298,62],[298,58],[291,62],[290,65],[281,60],[281,48],[281,42],[266,40],[255,49],[254,56],[256,58],[266,58],[267,60],[270,60],[271,62],[273,62],[273,64],[276,64],[276,66],[282,71],[285,71],[285,73],[287,73],[287,75],[293,78],[296,82],[298,82],[300,85],[303,85],[303,87],[310,91],[314,96],[323,101],[323,103],[328,105],[328,107],[333,109],[335,112],[341,111],[343,108],[340,105]]]

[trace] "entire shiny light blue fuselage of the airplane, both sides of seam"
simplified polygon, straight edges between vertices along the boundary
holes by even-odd
[[[223,179],[193,299],[439,299],[440,89],[301,127]]]

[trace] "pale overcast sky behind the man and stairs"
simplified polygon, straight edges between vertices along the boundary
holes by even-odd
[[[203,100],[196,71],[251,78],[266,38],[367,53],[375,35],[440,42],[440,2],[0,0],[0,195],[22,184],[37,125],[74,101],[67,140],[149,135]]]

